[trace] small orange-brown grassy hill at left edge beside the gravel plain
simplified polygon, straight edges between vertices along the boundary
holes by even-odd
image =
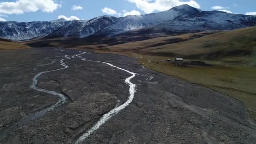
[[[6,40],[0,38],[0,50],[17,50],[17,49],[26,49],[30,48],[27,45],[22,45],[20,43],[15,43],[11,40]]]

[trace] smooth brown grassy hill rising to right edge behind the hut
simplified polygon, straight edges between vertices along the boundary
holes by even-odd
[[[253,54],[256,50],[256,27],[220,32],[179,44],[152,47],[144,53],[180,55],[192,59],[217,59]]]

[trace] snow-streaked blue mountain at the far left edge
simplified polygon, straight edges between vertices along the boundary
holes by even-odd
[[[27,40],[51,34],[67,21],[0,21],[0,37],[11,40]]]

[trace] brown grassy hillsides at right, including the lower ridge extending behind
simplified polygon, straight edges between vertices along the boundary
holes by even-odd
[[[181,43],[166,41],[186,39],[188,35],[160,37],[107,47],[113,51],[134,51],[152,56],[188,59],[219,59],[252,55],[256,50],[256,27],[218,32]]]

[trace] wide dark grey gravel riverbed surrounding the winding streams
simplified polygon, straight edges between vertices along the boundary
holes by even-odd
[[[0,143],[75,143],[101,117],[128,101],[125,79],[131,74],[93,61],[139,74],[131,79],[137,91],[127,107],[80,143],[256,143],[255,122],[240,101],[145,69],[129,57],[93,52],[75,56],[83,52],[0,51]],[[69,67],[61,69],[65,55],[74,58],[65,59]],[[46,57],[56,61],[34,69],[51,63]],[[45,112],[60,98],[29,86],[35,75],[54,69],[61,70],[40,75],[37,87],[61,93],[67,100]]]

